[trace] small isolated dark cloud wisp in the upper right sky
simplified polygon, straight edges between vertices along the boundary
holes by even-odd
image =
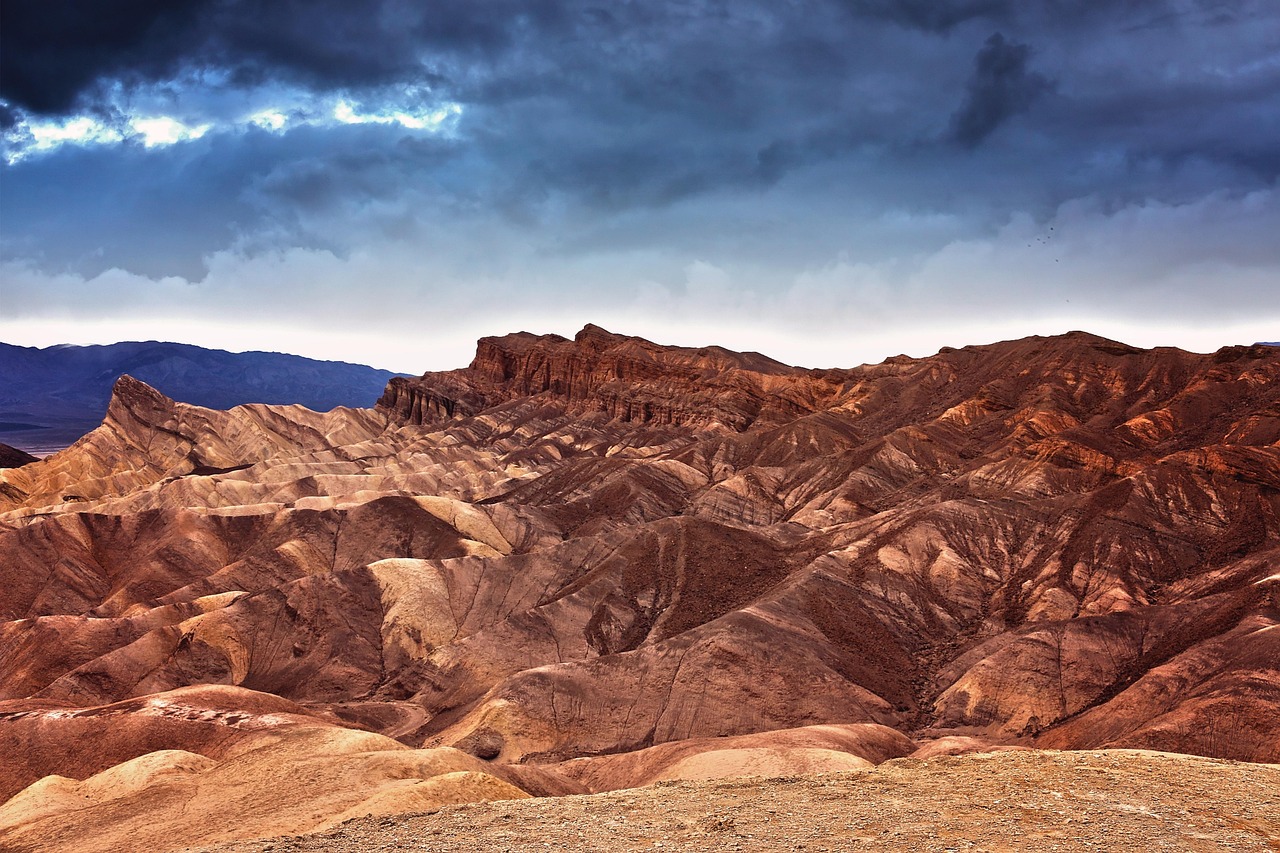
[[[1030,55],[1030,46],[1002,33],[987,38],[973,60],[964,102],[951,117],[951,138],[975,146],[1051,88],[1048,78],[1028,68]]]

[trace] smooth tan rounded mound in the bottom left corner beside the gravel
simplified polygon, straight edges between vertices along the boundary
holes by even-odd
[[[165,751],[83,781],[46,776],[0,806],[0,845],[174,849],[525,797],[454,749],[410,749],[337,726],[292,727],[242,744],[221,761]]]

